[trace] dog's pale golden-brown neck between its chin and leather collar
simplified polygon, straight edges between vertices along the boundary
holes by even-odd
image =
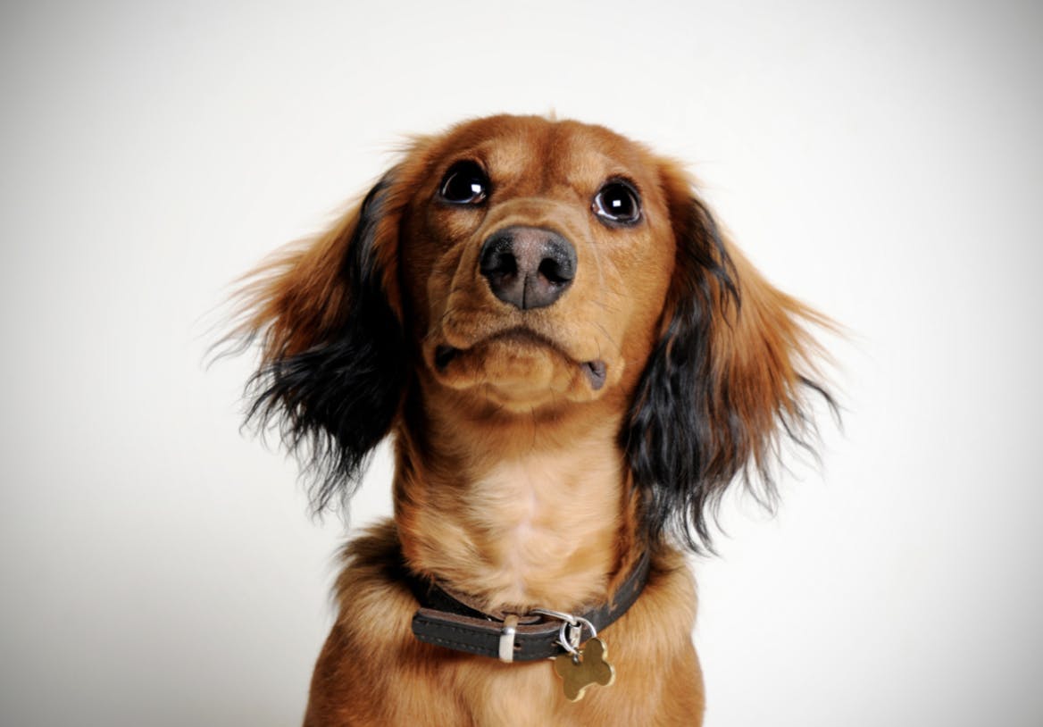
[[[584,406],[597,411],[517,416],[437,396],[413,407],[395,475],[410,567],[490,612],[603,600],[636,557],[635,518],[624,517],[620,409]]]

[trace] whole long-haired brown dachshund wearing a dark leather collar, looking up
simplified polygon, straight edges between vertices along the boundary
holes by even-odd
[[[462,123],[243,300],[251,417],[316,510],[394,442],[394,518],[344,548],[306,725],[702,722],[684,554],[814,434],[828,321],[678,165],[600,126]]]

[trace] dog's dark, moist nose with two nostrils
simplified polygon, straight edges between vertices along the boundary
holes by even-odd
[[[539,227],[507,227],[482,243],[479,270],[492,294],[515,308],[547,308],[576,277],[576,248]]]

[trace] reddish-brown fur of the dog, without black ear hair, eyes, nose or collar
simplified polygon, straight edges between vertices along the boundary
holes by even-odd
[[[458,160],[492,170],[486,204],[436,200]],[[639,190],[639,224],[612,228],[591,214],[610,177]],[[385,183],[373,255],[412,357],[392,430],[394,520],[344,549],[339,614],[306,725],[700,724],[694,583],[681,551],[646,532],[620,439],[682,294],[679,210],[690,179],[602,127],[494,117],[417,139]],[[263,336],[266,362],[336,335],[353,300],[341,266],[359,219],[356,208],[247,288],[242,333]],[[579,272],[553,306],[511,309],[478,273],[482,242],[512,224],[552,228],[575,245]],[[824,319],[725,244],[742,304],[711,281],[708,370],[719,393],[705,415],[722,419],[718,451],[732,453],[709,467],[730,478],[761,466],[779,419],[798,415],[798,368],[815,354],[802,321]],[[440,369],[444,345],[462,354]],[[600,389],[580,366],[596,359],[607,369]],[[727,441],[737,436],[728,416],[745,422],[742,441]],[[550,662],[503,664],[410,631],[417,603],[407,571],[489,612],[582,610],[610,598],[646,549],[645,592],[604,632],[616,681],[578,703],[564,699]]]

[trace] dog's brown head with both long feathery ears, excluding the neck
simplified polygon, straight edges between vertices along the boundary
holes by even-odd
[[[251,415],[307,444],[319,510],[409,428],[411,399],[549,426],[585,412],[617,421],[645,535],[698,548],[729,483],[771,491],[780,433],[803,441],[805,392],[824,393],[805,324],[827,321],[747,263],[680,167],[572,121],[415,140],[244,295]]]

